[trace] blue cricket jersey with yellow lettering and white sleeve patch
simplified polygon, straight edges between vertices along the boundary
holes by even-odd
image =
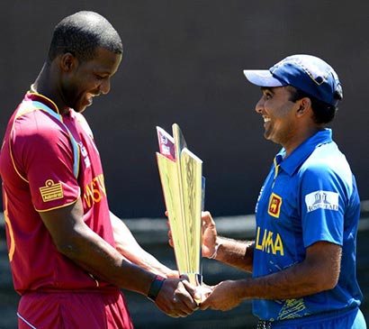
[[[359,306],[360,199],[347,160],[329,129],[313,135],[285,159],[284,155],[284,149],[276,155],[257,201],[253,277],[301,262],[306,249],[320,241],[342,247],[341,270],[335,288],[287,300],[254,300],[254,314],[275,321]]]

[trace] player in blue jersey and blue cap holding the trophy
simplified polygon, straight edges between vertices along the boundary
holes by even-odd
[[[282,150],[257,199],[255,241],[220,237],[203,213],[203,256],[252,277],[220,282],[201,308],[228,310],[253,299],[258,328],[365,329],[356,280],[360,199],[327,128],[343,96],[338,75],[311,55],[244,74],[261,87],[256,112],[264,136]]]

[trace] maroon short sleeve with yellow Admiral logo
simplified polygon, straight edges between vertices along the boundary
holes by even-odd
[[[41,111],[23,115],[22,129],[14,123],[14,167],[29,183],[38,211],[67,206],[76,201],[80,187],[73,173],[73,149],[61,123]],[[28,121],[28,123],[24,123]]]

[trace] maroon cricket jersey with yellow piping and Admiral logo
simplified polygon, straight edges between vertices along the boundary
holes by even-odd
[[[109,289],[57,251],[39,215],[80,197],[85,224],[114,246],[102,164],[84,116],[60,115],[48,98],[26,94],[7,126],[0,173],[15,290]]]

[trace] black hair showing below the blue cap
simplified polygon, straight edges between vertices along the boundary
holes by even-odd
[[[311,96],[310,94],[305,93],[303,90],[296,87],[288,86],[288,89],[291,93],[290,101],[293,103],[304,97],[309,97],[311,99],[311,108],[312,112],[314,113],[315,123],[330,123],[334,119],[335,114],[338,111],[337,106],[322,102],[320,99]]]

